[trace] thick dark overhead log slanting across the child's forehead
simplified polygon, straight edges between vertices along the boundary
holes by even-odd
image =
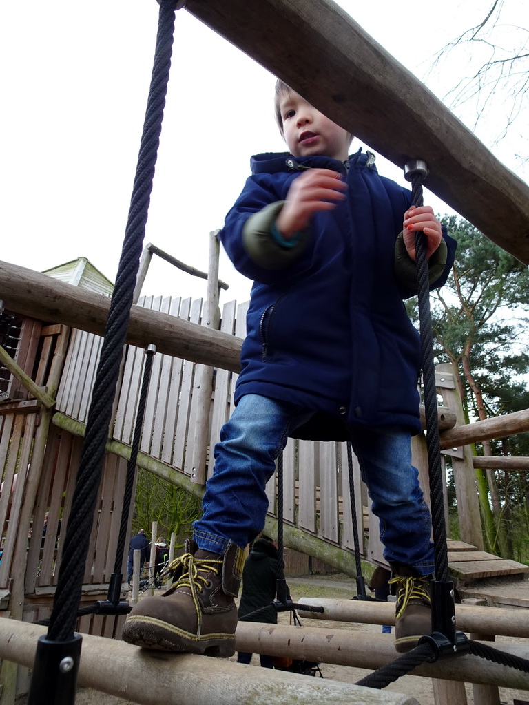
[[[528,185],[332,0],[187,0],[186,10],[394,164],[425,159],[427,188],[529,264]]]

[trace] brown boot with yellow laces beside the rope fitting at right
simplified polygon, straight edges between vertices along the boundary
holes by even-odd
[[[432,633],[430,575],[420,575],[409,565],[393,565],[389,584],[396,594],[395,649],[404,654],[420,637]]]

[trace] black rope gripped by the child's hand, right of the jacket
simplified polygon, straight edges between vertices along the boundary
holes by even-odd
[[[415,173],[411,176],[411,197],[415,207],[422,206],[422,180],[423,176],[420,173]],[[437,391],[435,388],[434,355],[432,350],[432,314],[430,312],[430,283],[428,281],[426,245],[424,233],[415,233],[420,342],[422,349],[422,383],[425,391],[426,441],[435,551],[435,577],[440,581],[448,581],[448,549],[446,546],[446,526],[444,524],[443,475],[437,419]]]

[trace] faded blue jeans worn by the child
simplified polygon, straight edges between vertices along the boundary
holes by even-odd
[[[193,524],[204,551],[221,553],[229,541],[245,548],[265,525],[265,486],[288,434],[313,412],[255,394],[243,396],[221,429],[215,467],[207,481],[202,518]],[[430,510],[418,471],[411,465],[410,434],[399,428],[351,429],[353,449],[379,517],[388,563],[411,565],[421,575],[434,570]]]

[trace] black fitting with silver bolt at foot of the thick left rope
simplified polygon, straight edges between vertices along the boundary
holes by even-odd
[[[67,642],[39,637],[28,705],[73,705],[83,637]]]

